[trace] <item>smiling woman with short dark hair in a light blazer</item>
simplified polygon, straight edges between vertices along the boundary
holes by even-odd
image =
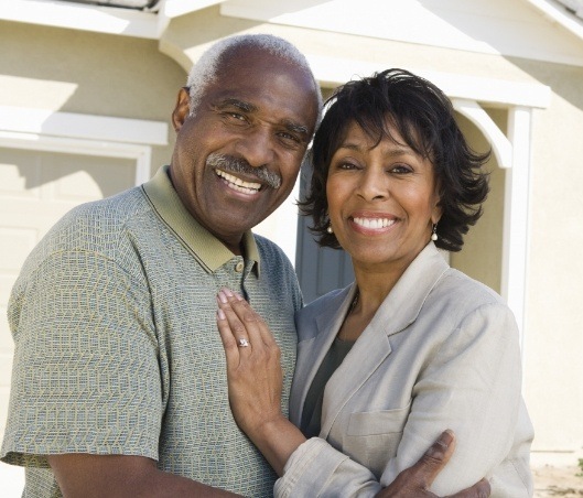
[[[280,411],[269,329],[219,293],[238,424],[282,496],[374,496],[446,427],[457,445],[433,492],[487,476],[492,496],[530,496],[516,322],[436,249],[458,251],[479,218],[488,154],[468,148],[444,94],[406,71],[349,82],[328,105],[302,207],[322,246],[350,255],[355,282],[299,313],[290,420],[301,431]]]

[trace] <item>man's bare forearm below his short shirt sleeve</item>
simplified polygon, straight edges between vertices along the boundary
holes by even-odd
[[[48,455],[47,461],[65,498],[239,496],[159,470],[143,456],[71,453]]]

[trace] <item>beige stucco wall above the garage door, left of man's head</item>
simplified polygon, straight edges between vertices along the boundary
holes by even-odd
[[[169,122],[185,72],[152,40],[0,21],[0,105]]]

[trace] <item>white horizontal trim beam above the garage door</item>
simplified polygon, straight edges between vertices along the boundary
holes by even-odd
[[[168,123],[0,106],[0,130],[109,142],[168,145]]]

